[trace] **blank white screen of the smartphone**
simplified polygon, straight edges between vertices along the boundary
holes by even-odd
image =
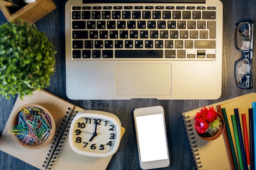
[[[136,117],[141,162],[168,159],[162,114]]]

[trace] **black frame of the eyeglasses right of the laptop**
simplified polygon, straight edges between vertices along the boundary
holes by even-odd
[[[250,84],[249,84],[249,87],[243,87],[243,86],[240,86],[238,84],[238,81],[236,79],[236,85],[239,87],[239,88],[252,88],[252,57],[253,57],[253,36],[254,36],[254,22],[253,21],[247,21],[247,22],[240,22],[240,23],[236,23],[235,26],[237,28],[237,31],[238,31],[238,26],[240,24],[245,24],[245,23],[248,23],[250,24],[251,26],[251,37],[250,37],[250,44],[249,44],[249,48],[248,50],[243,50],[243,49],[240,49],[238,48],[238,45],[237,45],[237,32],[236,32],[236,47],[238,48],[238,50],[242,51],[245,53],[245,57],[241,60],[238,60],[236,62],[236,67],[235,67],[235,79],[236,79],[236,69],[237,69],[237,64],[238,62],[241,62],[243,60],[247,60],[248,63],[249,63],[249,66],[250,66]]]

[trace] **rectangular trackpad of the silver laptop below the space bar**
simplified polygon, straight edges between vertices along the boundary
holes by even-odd
[[[171,95],[171,64],[117,64],[117,95]]]

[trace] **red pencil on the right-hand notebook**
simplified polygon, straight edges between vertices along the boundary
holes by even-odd
[[[242,114],[243,121],[243,131],[244,131],[244,140],[245,140],[245,154],[247,159],[247,165],[250,170],[251,160],[250,160],[250,148],[249,148],[249,140],[248,140],[248,132],[247,132],[247,124],[246,124],[246,115]]]

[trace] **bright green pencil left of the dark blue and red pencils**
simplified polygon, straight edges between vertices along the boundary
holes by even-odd
[[[237,129],[237,124],[236,124],[236,116],[235,115],[231,115],[231,120],[232,120],[232,124],[233,124],[233,129],[234,129],[234,136],[235,136],[235,141],[236,141],[236,150],[237,150],[238,162],[239,162],[240,170],[244,170],[242,151],[241,151],[241,147],[240,147],[240,141],[239,141],[239,136],[238,136],[238,129]]]

